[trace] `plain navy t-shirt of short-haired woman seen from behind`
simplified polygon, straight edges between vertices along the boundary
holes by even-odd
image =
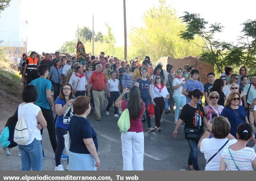
[[[97,133],[93,130],[88,119],[77,116],[71,117],[68,131],[71,140],[69,151],[73,153],[90,154],[83,139],[92,138],[98,152]]]

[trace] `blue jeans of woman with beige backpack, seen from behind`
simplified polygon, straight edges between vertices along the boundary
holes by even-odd
[[[21,170],[43,170],[43,152],[41,140],[36,140],[28,145],[19,145]]]

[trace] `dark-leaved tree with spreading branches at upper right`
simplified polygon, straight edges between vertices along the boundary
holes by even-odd
[[[233,42],[214,39],[214,35],[222,32],[224,27],[220,23],[210,24],[207,27],[208,22],[200,18],[199,14],[184,13],[185,15],[181,19],[187,26],[184,31],[181,31],[180,37],[206,50],[200,57],[203,61],[213,64],[221,73],[223,73],[223,67],[226,65],[234,68],[241,65],[255,68],[256,20],[247,20],[242,24],[244,35],[240,36],[238,43],[234,45]],[[195,42],[195,38],[198,36],[203,39],[203,46]]]

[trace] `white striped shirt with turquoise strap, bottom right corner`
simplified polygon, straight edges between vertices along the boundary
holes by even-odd
[[[256,153],[253,148],[245,147],[238,151],[230,149],[230,153],[240,170],[254,170],[252,162],[256,157]],[[228,147],[224,147],[221,157],[227,165],[226,170],[237,170],[236,165],[229,154]]]

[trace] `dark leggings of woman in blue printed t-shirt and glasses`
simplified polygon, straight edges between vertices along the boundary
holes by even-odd
[[[56,167],[60,165],[60,159],[61,159],[61,154],[65,148],[65,139],[63,137],[64,134],[67,134],[67,130],[64,128],[56,127],[55,128],[56,132],[56,137],[57,137],[57,149],[55,151],[55,164]]]

